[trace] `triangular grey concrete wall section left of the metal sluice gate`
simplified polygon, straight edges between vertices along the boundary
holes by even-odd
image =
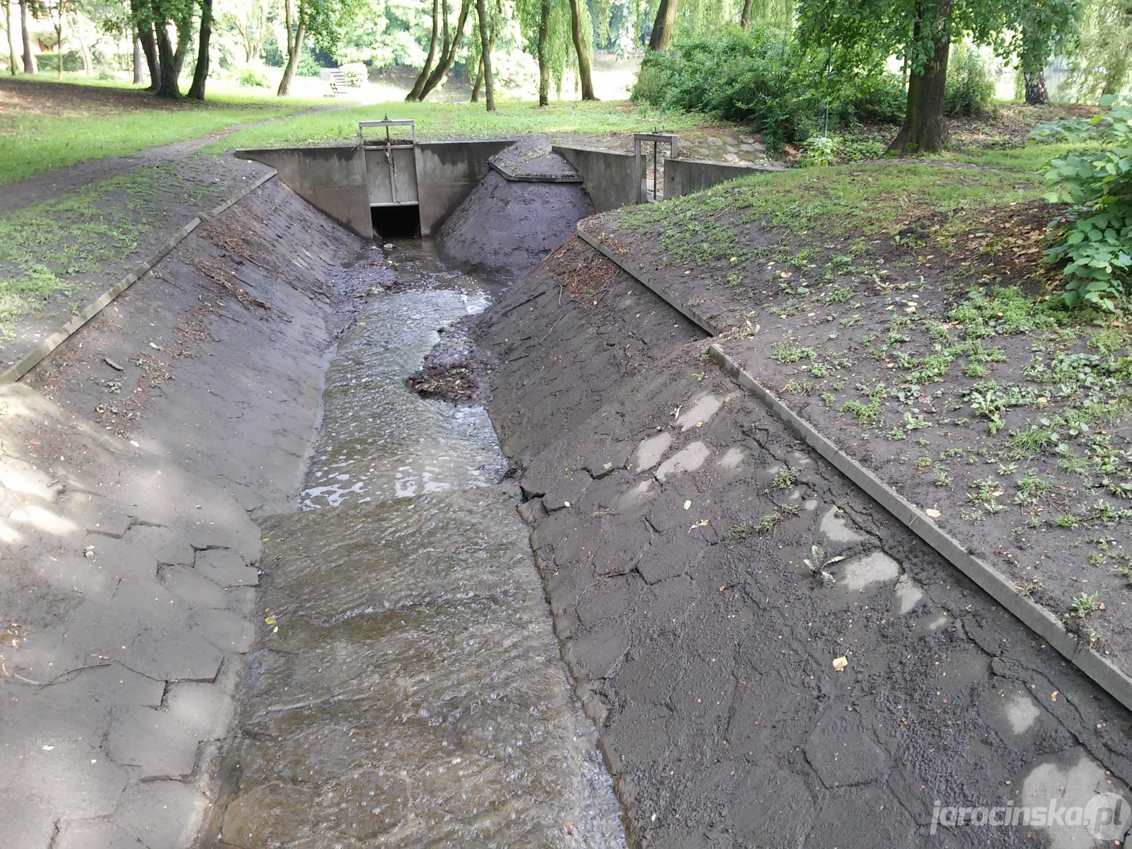
[[[271,165],[280,179],[303,200],[371,239],[366,161],[358,145],[328,147],[271,147],[235,151],[243,160]]]

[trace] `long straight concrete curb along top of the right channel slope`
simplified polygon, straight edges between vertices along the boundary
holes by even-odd
[[[615,255],[603,247],[598,239],[584,232],[581,225],[577,229],[577,235],[646,289],[660,295],[674,309],[701,329],[712,336],[720,334],[722,328],[700,315],[692,307],[681,303],[679,298],[668,289],[651,281],[649,274],[636,263]],[[860,489],[889,511],[889,513],[899,518],[908,530],[931,546],[952,566],[978,584],[990,598],[1013,614],[1023,625],[1041,637],[1046,644],[1072,662],[1073,666],[1080,669],[1097,686],[1124,705],[1124,707],[1132,710],[1132,677],[1095,650],[1082,645],[1072,634],[1062,627],[1062,624],[1048,610],[1020,595],[1005,575],[971,555],[955,538],[943,531],[925,513],[897,492],[897,490],[884,483],[865,466],[838,448],[808,421],[795,414],[773,393],[745,371],[739,363],[728,357],[719,345],[710,345],[707,352],[727,374],[734,377],[744,389],[754,395],[803,441],[832,463],[838,471],[860,487]]]

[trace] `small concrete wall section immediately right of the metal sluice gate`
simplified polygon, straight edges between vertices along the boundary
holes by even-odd
[[[417,143],[417,191],[420,197],[421,235],[431,235],[488,171],[488,157],[514,144],[490,142]]]

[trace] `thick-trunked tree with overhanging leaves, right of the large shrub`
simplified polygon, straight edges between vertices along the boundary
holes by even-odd
[[[1046,0],[1043,0],[1046,1]],[[947,140],[944,86],[953,38],[970,36],[1009,58],[1032,0],[799,0],[798,34],[814,48],[867,48],[895,53],[908,68],[904,122],[890,151],[937,152]],[[1061,14],[1070,3],[1057,3]],[[1061,20],[1052,23],[1061,26]]]

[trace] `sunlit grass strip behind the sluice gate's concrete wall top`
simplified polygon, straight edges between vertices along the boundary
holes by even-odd
[[[508,138],[533,134],[598,136],[607,132],[640,132],[655,126],[680,131],[719,123],[704,115],[657,112],[625,101],[567,102],[541,108],[531,102],[501,101],[497,102],[496,109],[495,113],[490,113],[482,103],[377,103],[249,127],[216,142],[211,148],[218,153],[230,147],[271,147],[354,139],[358,137],[358,121],[386,115],[412,118],[417,121],[417,137],[424,140]]]

